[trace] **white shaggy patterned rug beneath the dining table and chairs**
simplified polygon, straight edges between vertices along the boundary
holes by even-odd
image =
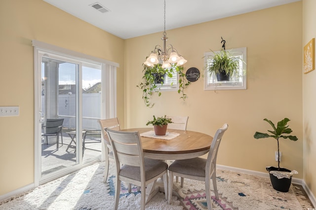
[[[103,183],[104,162],[96,163],[65,177],[53,180],[23,195],[0,202],[0,210],[112,210],[114,204],[114,162],[110,163],[107,183]],[[217,170],[220,199],[212,194],[214,210],[306,210],[313,208],[298,188],[288,193],[273,189],[269,178]],[[177,183],[178,184],[178,183]],[[132,193],[122,183],[119,210],[140,209],[140,193]],[[158,193],[146,210],[207,209],[204,182],[185,179],[185,199],[172,198],[171,205],[164,193]]]

